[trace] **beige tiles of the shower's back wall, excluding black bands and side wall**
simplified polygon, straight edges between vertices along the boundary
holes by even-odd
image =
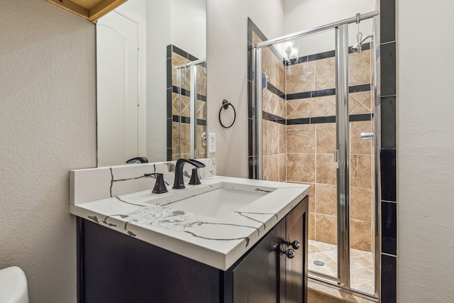
[[[350,54],[350,86],[370,83],[370,51]],[[287,67],[287,94],[336,87],[334,58]],[[303,74],[301,76],[301,73]],[[350,114],[370,114],[370,92],[349,96]],[[336,97],[288,100],[287,119],[336,115]],[[371,250],[372,245],[372,145],[360,140],[372,131],[371,121],[350,122],[350,236],[351,247]],[[287,181],[312,185],[309,195],[309,238],[336,244],[336,123],[287,126]]]

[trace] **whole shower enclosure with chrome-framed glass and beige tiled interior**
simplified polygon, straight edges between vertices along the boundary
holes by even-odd
[[[380,290],[375,16],[273,40],[253,29],[250,69],[262,77],[250,83],[249,124],[250,177],[311,184],[309,276],[372,297]]]

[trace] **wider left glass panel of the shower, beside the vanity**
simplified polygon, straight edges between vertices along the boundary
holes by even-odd
[[[338,282],[335,48],[334,29],[262,48],[256,106],[259,174],[311,185],[309,270]]]

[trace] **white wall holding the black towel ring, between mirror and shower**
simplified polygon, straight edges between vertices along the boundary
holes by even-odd
[[[268,38],[283,31],[281,0],[210,0],[207,3],[208,129],[216,133],[218,175],[248,177],[248,17]],[[236,122],[222,128],[218,111],[222,100],[236,107]]]

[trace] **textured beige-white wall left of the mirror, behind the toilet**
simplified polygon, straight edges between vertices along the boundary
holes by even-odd
[[[94,25],[0,0],[0,33],[0,268],[23,268],[31,302],[76,302],[69,171],[96,166]]]

